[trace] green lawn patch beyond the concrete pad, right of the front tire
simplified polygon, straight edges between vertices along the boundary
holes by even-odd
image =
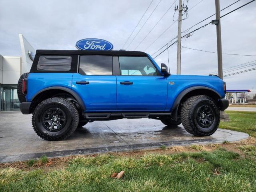
[[[219,128],[245,132],[256,137],[256,112],[225,111],[230,122],[220,122]]]

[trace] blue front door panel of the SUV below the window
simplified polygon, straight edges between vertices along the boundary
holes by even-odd
[[[117,76],[117,103],[120,111],[165,110],[167,81],[163,76]],[[130,81],[125,85],[120,82]]]

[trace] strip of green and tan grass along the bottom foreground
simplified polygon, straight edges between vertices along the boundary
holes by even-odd
[[[121,170],[125,173],[120,180],[110,177]],[[254,159],[225,150],[146,154],[138,159],[99,155],[75,158],[66,168],[48,172],[0,169],[0,191],[240,192],[256,191],[255,178]]]

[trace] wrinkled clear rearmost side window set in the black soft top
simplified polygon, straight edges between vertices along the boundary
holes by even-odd
[[[37,64],[39,71],[70,71],[71,56],[40,56]]]

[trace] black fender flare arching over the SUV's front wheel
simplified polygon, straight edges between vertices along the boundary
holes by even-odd
[[[197,89],[207,89],[207,90],[210,90],[214,93],[216,93],[220,98],[220,94],[212,89],[212,88],[208,88],[208,87],[204,87],[204,86],[192,86],[192,87],[189,87],[189,88],[186,88],[185,90],[183,90],[182,92],[180,92],[180,94],[176,97],[173,105],[172,105],[172,118],[177,121],[178,120],[178,106],[180,105],[180,101],[182,100],[182,98],[188,94],[189,92],[191,91],[194,91],[194,90],[197,90]]]

